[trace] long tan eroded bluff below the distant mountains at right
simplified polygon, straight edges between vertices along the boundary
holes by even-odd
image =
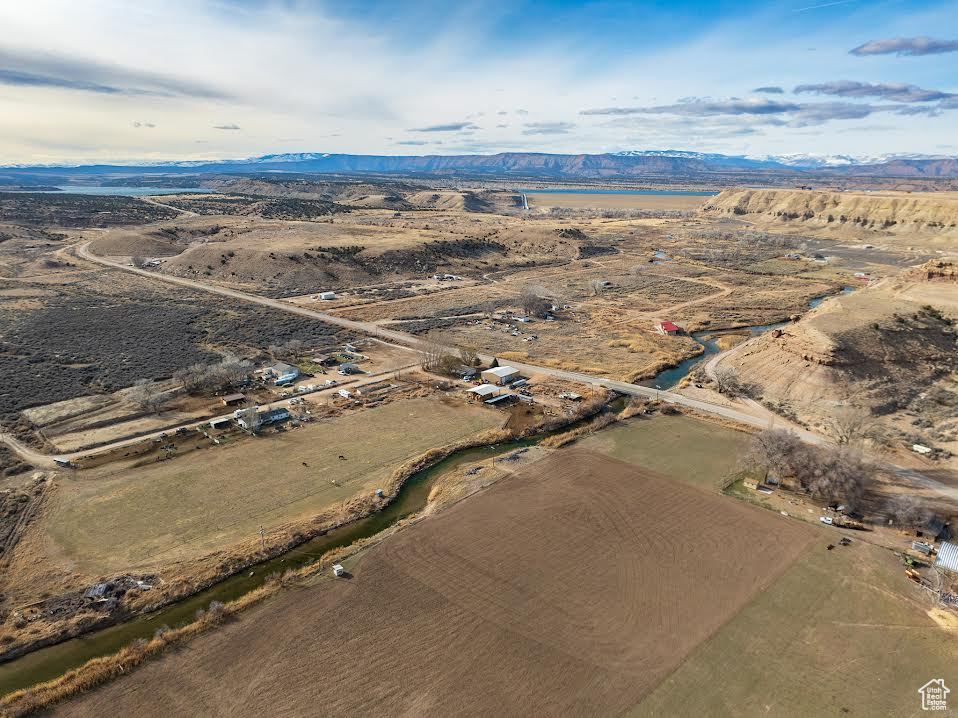
[[[735,189],[722,192],[702,211],[803,231],[827,229],[836,236],[934,233],[939,238],[958,237],[958,194],[953,192]]]

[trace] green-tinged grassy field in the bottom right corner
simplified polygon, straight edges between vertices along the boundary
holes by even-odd
[[[918,689],[954,675],[954,614],[890,551],[825,540],[626,715],[920,715]]]

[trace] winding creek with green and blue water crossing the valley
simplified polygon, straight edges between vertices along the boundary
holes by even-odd
[[[854,291],[854,287],[842,289],[843,294],[852,291]],[[812,299],[809,301],[809,307],[814,309],[828,296],[832,295]],[[670,389],[684,379],[699,362],[721,351],[718,346],[720,336],[745,332],[752,336],[758,336],[770,329],[786,324],[788,322],[693,332],[691,338],[701,344],[704,351],[660,372],[654,379],[642,383],[659,389]],[[437,480],[450,471],[466,463],[481,463],[516,449],[531,446],[541,441],[545,436],[546,434],[540,434],[526,439],[499,443],[494,446],[455,452],[410,477],[403,484],[396,499],[377,513],[333,529],[322,536],[317,536],[296,548],[290,549],[281,556],[234,574],[193,596],[171,603],[152,613],[62,643],[40,648],[15,660],[2,663],[0,664],[0,696],[56,678],[92,658],[114,653],[137,639],[150,639],[156,630],[163,626],[175,627],[189,623],[194,619],[199,609],[207,608],[212,601],[223,603],[233,601],[262,586],[267,577],[273,573],[308,565],[318,560],[327,551],[342,548],[360,539],[374,536],[400,519],[421,511],[426,506],[429,492]]]

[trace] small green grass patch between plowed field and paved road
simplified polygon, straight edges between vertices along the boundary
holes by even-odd
[[[748,434],[683,414],[636,417],[582,440],[583,449],[717,489],[741,470]]]

